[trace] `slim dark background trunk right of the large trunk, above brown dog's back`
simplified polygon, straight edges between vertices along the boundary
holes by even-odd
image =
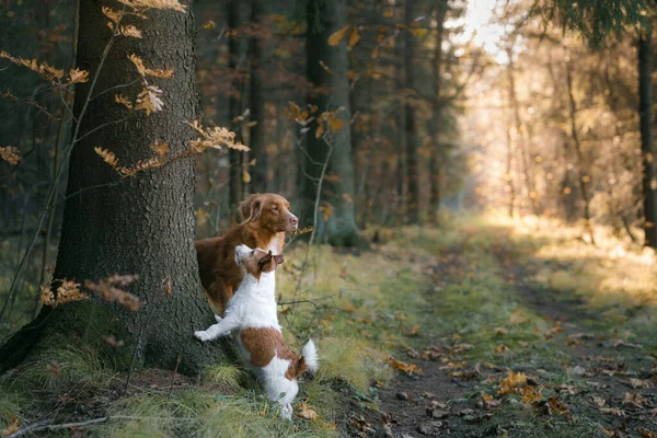
[[[240,0],[229,0],[228,2],[228,27],[232,31],[240,26]],[[228,68],[235,72],[238,69],[238,60],[240,57],[240,36],[231,35],[228,37]],[[237,88],[238,84],[233,80],[233,88]],[[229,99],[229,123],[234,117],[238,117],[242,114],[242,103],[241,99],[239,99],[233,90]],[[235,132],[240,136],[241,125],[235,128]],[[244,158],[244,153],[237,151],[234,149],[230,149],[228,151],[228,160],[229,160],[229,197],[228,204],[229,209],[231,211],[231,217],[233,220],[235,219],[238,205],[244,198],[244,188],[242,186],[242,160]]]

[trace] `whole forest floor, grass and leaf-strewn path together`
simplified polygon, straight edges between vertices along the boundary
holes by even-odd
[[[284,335],[321,358],[293,422],[240,364],[128,377],[69,349],[0,379],[0,436],[657,437],[652,251],[531,218],[377,234],[286,252]]]

